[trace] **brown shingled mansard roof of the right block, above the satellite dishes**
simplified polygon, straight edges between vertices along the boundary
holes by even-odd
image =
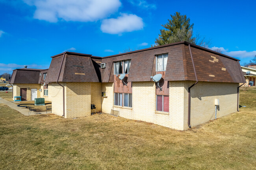
[[[154,57],[168,53],[166,81],[196,80],[188,45],[191,46],[198,81],[206,82],[245,82],[241,76],[239,60],[227,55],[202,48],[188,42],[176,42],[128,53],[102,57],[106,68],[102,70],[102,82],[109,82],[114,61],[131,59],[128,82],[152,81]],[[156,72],[154,72],[156,74]]]

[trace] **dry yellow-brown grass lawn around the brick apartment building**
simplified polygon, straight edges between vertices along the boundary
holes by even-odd
[[[186,131],[111,115],[25,117],[0,104],[0,169],[256,169],[256,88],[240,112]]]

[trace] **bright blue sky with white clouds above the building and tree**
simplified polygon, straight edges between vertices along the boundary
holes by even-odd
[[[63,51],[104,57],[149,48],[176,11],[211,48],[248,62],[256,55],[255,7],[255,0],[0,0],[0,74],[48,68]]]

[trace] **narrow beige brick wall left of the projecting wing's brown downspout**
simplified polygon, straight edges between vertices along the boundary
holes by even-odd
[[[66,83],[61,82],[61,84],[65,87],[66,91]],[[56,115],[63,115],[63,88],[59,86],[56,82],[52,83],[52,93],[50,94],[52,98],[52,113]],[[66,113],[66,112],[65,112]]]

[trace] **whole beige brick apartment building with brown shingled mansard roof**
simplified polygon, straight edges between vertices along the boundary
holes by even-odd
[[[239,83],[245,83],[239,60],[188,42],[107,57],[65,52],[52,57],[49,69],[32,71],[35,75],[26,81],[19,78],[25,76],[19,75],[22,71],[32,70],[14,70],[13,95],[33,84],[41,89],[37,97],[52,101],[54,114],[89,116],[95,104],[96,112],[177,130],[214,119],[215,99],[217,117],[236,112]],[[158,83],[151,78],[156,74],[161,74]]]

